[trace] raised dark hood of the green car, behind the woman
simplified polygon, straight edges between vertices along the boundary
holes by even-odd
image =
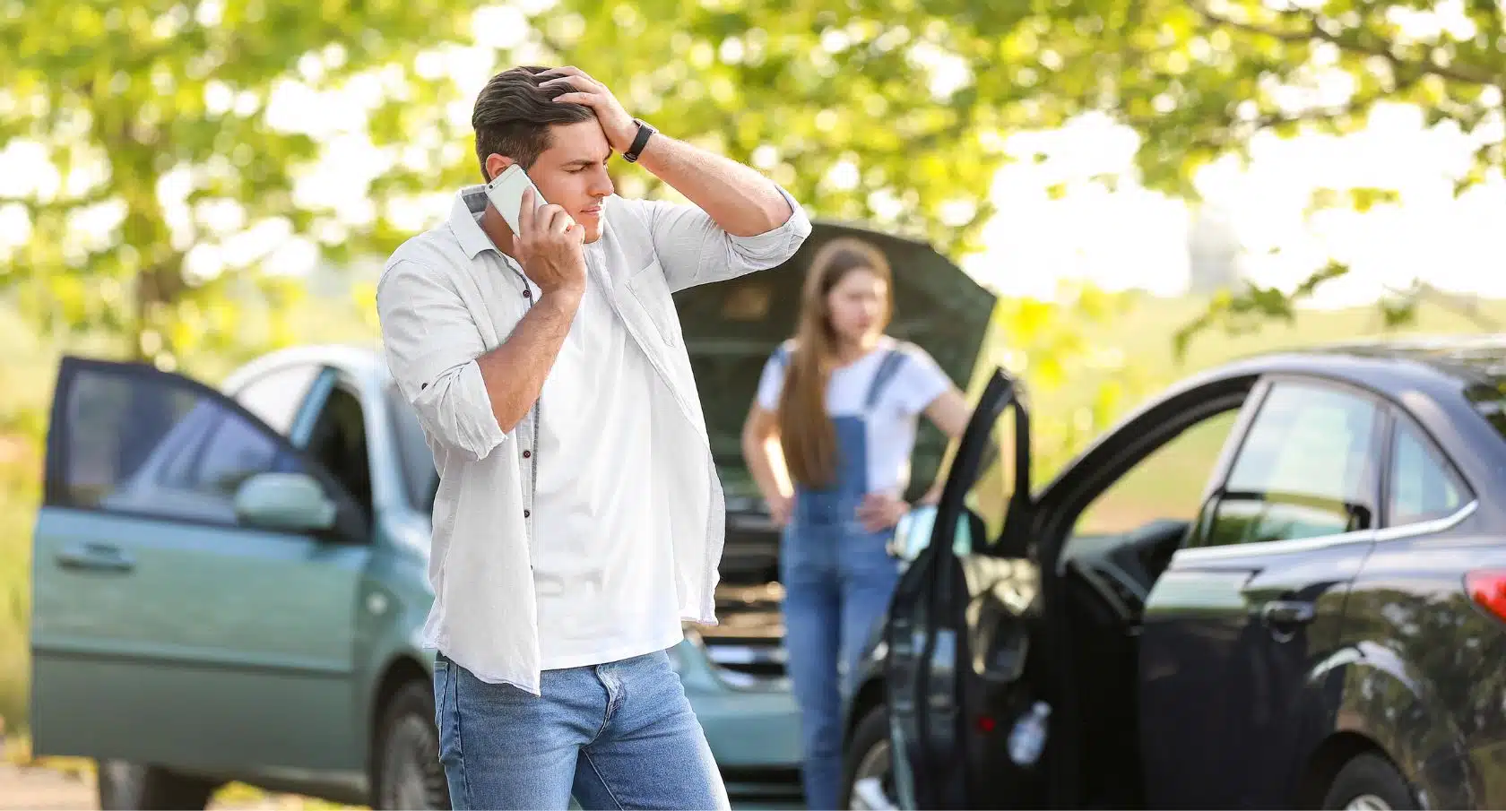
[[[795,334],[800,292],[810,257],[830,239],[857,236],[889,257],[895,274],[895,319],[889,334],[922,346],[965,388],[995,296],[931,245],[837,223],[815,223],[789,262],[675,293],[685,348],[706,417],[729,512],[755,509],[758,491],[742,462],[742,421],[764,363]],[[937,475],[946,438],[922,421],[911,466],[911,495]]]

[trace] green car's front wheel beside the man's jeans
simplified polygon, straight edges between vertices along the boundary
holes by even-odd
[[[425,682],[404,685],[387,701],[372,748],[373,808],[450,806],[440,766],[440,730],[434,725],[434,692]]]

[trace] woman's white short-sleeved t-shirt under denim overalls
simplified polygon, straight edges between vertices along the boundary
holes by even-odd
[[[867,391],[884,357],[899,348],[904,360],[893,378],[884,384],[873,408],[866,408]],[[794,348],[786,345],[786,351]],[[767,411],[779,409],[785,388],[786,360],[776,352],[764,364],[758,385],[758,403]],[[916,448],[917,415],[940,397],[952,381],[937,361],[916,345],[901,345],[884,336],[872,352],[831,373],[827,382],[827,414],[833,417],[861,415],[867,418],[867,483],[869,491],[902,494],[910,484],[910,454]]]

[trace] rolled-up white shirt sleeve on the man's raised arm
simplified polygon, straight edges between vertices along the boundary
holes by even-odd
[[[643,215],[654,233],[654,253],[670,290],[767,271],[795,256],[810,236],[810,218],[789,191],[776,188],[789,203],[789,220],[753,236],[727,233],[697,206],[642,202]]]

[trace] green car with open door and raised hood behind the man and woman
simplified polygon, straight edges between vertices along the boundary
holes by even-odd
[[[764,358],[794,328],[804,262],[845,230],[818,226],[786,266],[679,298],[727,548],[721,624],[688,627],[675,653],[733,793],[798,796],[800,766],[779,533],[738,433]],[[965,379],[992,296],[925,245],[883,239],[896,274],[923,280],[896,281],[910,290],[899,316],[976,296],[940,327],[895,330]],[[919,454],[917,488],[940,450],[932,438]],[[65,358],[33,540],[33,751],[95,758],[102,808],[203,808],[229,781],[447,808],[434,655],[419,644],[437,480],[375,348],[280,351],[218,390]]]

